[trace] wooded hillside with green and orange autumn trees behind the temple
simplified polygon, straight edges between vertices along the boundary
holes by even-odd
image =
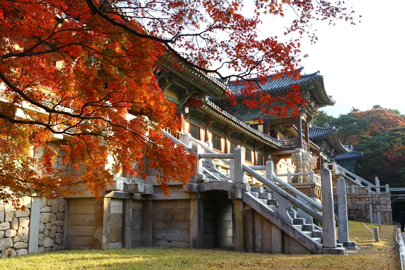
[[[365,154],[357,175],[371,182],[378,176],[381,184],[405,186],[405,115],[398,110],[375,105],[367,111],[353,108],[338,118],[320,110],[312,123],[335,126],[342,144],[353,144],[353,149]]]

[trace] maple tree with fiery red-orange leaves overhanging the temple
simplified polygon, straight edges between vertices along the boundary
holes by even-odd
[[[121,169],[144,177],[145,167],[160,172],[168,194],[169,180],[189,179],[195,157],[160,132],[179,128],[174,104],[153,73],[160,55],[170,53],[223,80],[246,80],[249,96],[271,73],[299,76],[300,39],[317,38],[311,20],[354,22],[340,1],[256,0],[249,16],[243,3],[1,0],[0,199],[15,203],[29,189],[65,195],[75,183],[97,192]],[[291,38],[258,36],[263,16],[289,9],[295,17],[285,34]],[[223,75],[221,68],[234,72]],[[293,89],[288,106],[292,100],[302,105]],[[275,100],[267,95],[266,102]],[[58,149],[48,142],[54,136],[63,136],[63,164],[86,164],[83,175],[53,168]],[[108,168],[107,156],[113,159]]]

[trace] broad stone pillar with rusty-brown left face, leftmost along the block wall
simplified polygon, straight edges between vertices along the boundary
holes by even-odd
[[[94,249],[110,248],[110,215],[111,198],[101,197],[96,199]]]

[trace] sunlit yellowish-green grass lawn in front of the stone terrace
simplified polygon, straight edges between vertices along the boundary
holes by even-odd
[[[374,225],[368,224],[371,229]],[[359,222],[349,222],[350,240],[360,249],[347,256],[269,255],[222,250],[131,248],[58,251],[0,259],[11,269],[399,269],[395,226],[381,225],[380,242]]]

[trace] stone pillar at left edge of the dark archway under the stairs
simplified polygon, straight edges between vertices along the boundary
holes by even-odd
[[[203,201],[200,199],[190,199],[190,248],[203,248],[204,244],[203,236],[204,236]]]

